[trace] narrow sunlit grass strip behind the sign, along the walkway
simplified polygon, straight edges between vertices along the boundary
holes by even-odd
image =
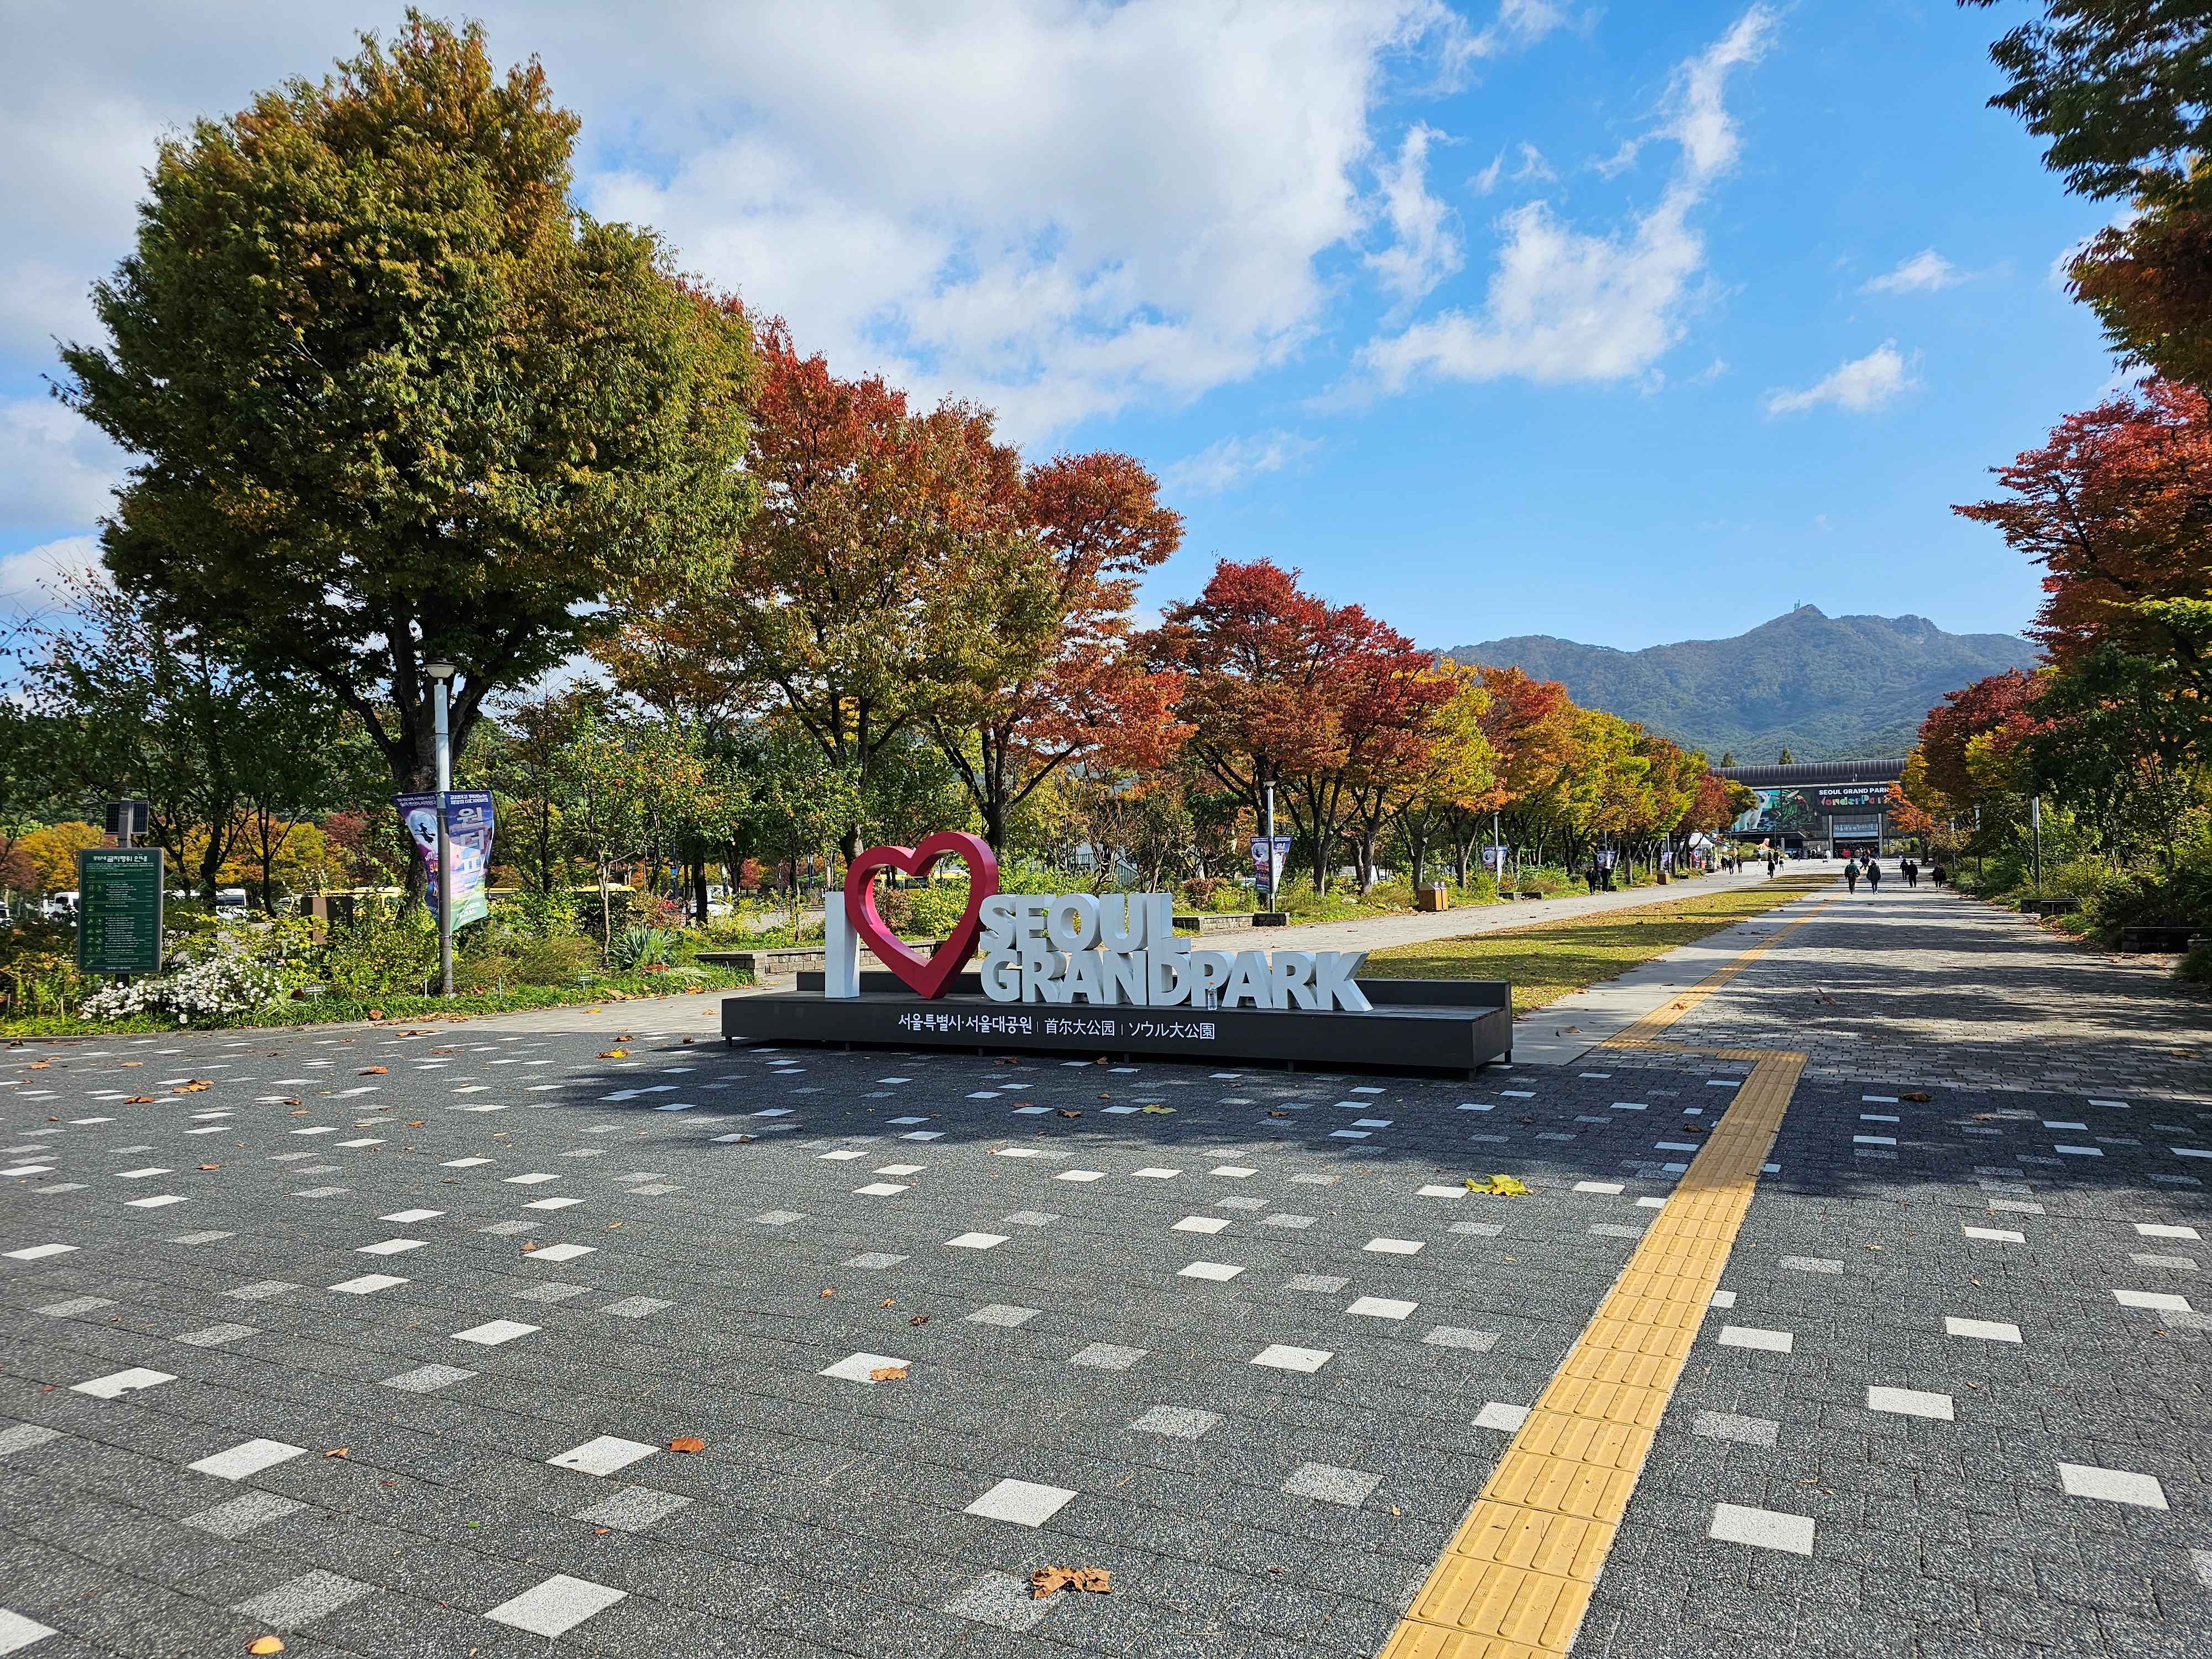
[[[1827,885],[1778,880],[1721,887],[1604,916],[1396,945],[1369,956],[1360,973],[1378,980],[1511,980],[1513,1013],[1526,1013]]]

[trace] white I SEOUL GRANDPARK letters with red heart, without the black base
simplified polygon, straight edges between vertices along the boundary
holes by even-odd
[[[876,874],[922,876],[953,856],[969,867],[967,911],[922,958],[876,911]],[[991,847],[960,832],[863,852],[825,909],[823,991],[832,998],[860,993],[856,945],[865,940],[922,998],[942,998],[980,947],[982,993],[993,1002],[1371,1011],[1354,980],[1365,951],[1197,951],[1177,938],[1168,894],[1002,894]]]

